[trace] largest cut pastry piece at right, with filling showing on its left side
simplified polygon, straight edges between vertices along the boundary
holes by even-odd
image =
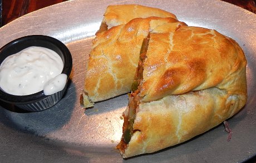
[[[123,114],[117,149],[124,158],[202,134],[247,101],[247,61],[233,39],[181,26],[174,33],[151,33],[148,42]]]

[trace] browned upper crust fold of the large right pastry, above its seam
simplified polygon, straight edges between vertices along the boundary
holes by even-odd
[[[150,38],[140,94],[143,102],[213,86],[230,94],[246,90],[240,74],[247,62],[233,39],[216,30],[186,26]]]

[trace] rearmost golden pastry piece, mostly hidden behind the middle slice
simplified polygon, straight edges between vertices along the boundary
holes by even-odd
[[[110,5],[106,8],[99,32],[110,29],[114,26],[126,24],[134,18],[147,17],[170,17],[177,19],[173,13],[166,12],[159,8],[141,6],[138,4]]]

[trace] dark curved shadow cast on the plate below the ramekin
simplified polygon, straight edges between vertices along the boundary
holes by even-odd
[[[43,136],[52,131],[62,128],[71,118],[75,108],[76,94],[75,86],[69,82],[63,98],[52,108],[47,110],[30,112],[19,109],[16,106],[0,103],[0,123],[9,128]]]

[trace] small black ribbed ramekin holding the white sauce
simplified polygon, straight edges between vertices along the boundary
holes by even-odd
[[[58,55],[60,55],[63,61],[62,73],[70,77],[72,70],[72,56],[70,50],[60,40],[46,36],[46,35],[28,35],[21,37],[8,44],[4,45],[0,49],[0,64],[9,55],[20,52],[31,46],[44,47],[52,49]],[[68,80],[67,78],[67,80]],[[67,82],[65,88],[52,95],[43,94],[43,90],[29,95],[12,95],[8,94],[0,88],[0,100],[14,104],[21,109],[28,111],[42,111],[51,108],[61,100],[63,94],[67,88]]]

